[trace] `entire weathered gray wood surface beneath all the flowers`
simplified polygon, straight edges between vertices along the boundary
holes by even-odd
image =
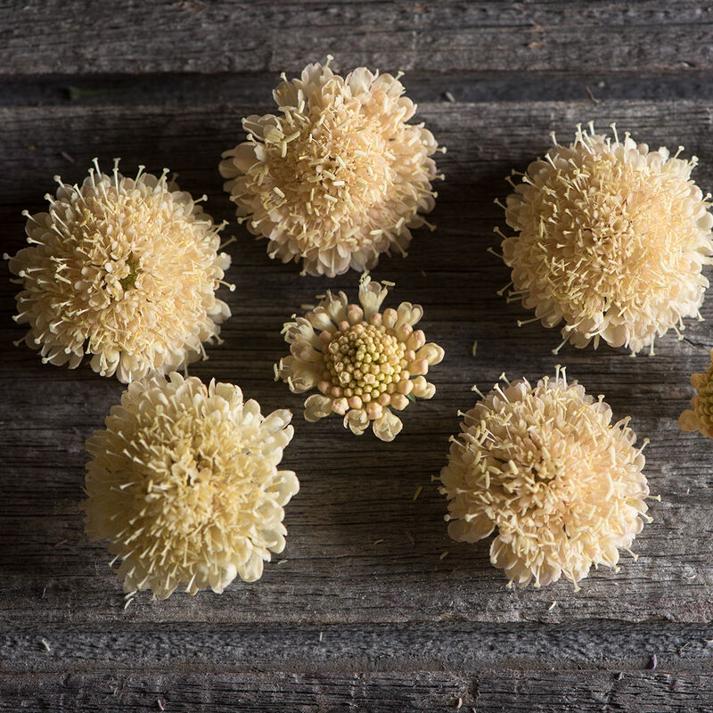
[[[706,4],[663,0],[0,5],[2,250],[22,247],[20,212],[43,209],[52,176],[81,180],[94,156],[120,156],[127,172],[168,166],[207,193],[239,239],[228,274],[238,289],[223,295],[234,313],[225,344],[191,373],[239,383],[265,411],[290,407],[283,463],[301,482],[282,563],[258,583],[166,602],[142,594],[124,611],[78,511],[85,438],[122,386],[13,348],[23,330],[2,266],[0,710],[446,710],[461,699],[479,713],[712,711],[713,443],[676,418],[689,374],[708,364],[713,301],[706,322],[660,340],[656,356],[553,356],[558,332],[516,326],[529,315],[496,295],[508,271],[486,252],[504,176],[544,152],[550,130],[563,140],[580,121],[684,144],[713,189],[712,23]],[[436,397],[406,410],[391,444],[336,419],[304,422],[300,398],[273,381],[283,321],[325,287],[353,292],[357,275],[303,278],[270,261],[235,224],[217,174],[241,117],[271,110],[277,73],[328,52],[343,70],[408,70],[419,118],[448,147],[438,230],[373,273],[397,283],[391,304],[422,303],[447,355],[432,372]],[[91,95],[72,99],[70,87]],[[651,438],[661,503],[635,541],[638,561],[626,555],[618,574],[595,572],[577,594],[566,583],[509,591],[488,543],[449,541],[430,476],[472,383],[487,388],[504,370],[537,379],[558,363]]]

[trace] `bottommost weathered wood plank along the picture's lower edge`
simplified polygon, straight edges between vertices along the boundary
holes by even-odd
[[[160,704],[159,704],[160,701]],[[530,675],[512,670],[454,673],[369,672],[350,676],[241,674],[175,670],[170,673],[27,674],[0,676],[0,711],[171,713],[368,710],[476,711],[476,713],[710,713],[713,675],[637,671]],[[460,708],[459,708],[460,705]]]

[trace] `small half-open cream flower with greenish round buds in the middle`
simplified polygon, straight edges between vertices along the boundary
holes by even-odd
[[[402,411],[414,397],[436,393],[423,375],[443,359],[443,349],[414,332],[423,308],[402,302],[381,313],[386,294],[365,275],[359,305],[348,304],[344,292],[327,292],[314,310],[284,325],[291,356],[275,365],[275,376],[296,394],[319,389],[305,401],[307,421],[340,414],[357,436],[371,422],[374,435],[390,441],[403,427],[390,409]]]

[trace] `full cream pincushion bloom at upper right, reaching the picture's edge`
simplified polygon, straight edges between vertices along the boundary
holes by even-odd
[[[547,327],[564,320],[563,344],[653,352],[683,317],[701,318],[713,216],[691,180],[695,157],[614,136],[578,127],[574,143],[555,142],[529,165],[507,199],[517,234],[504,238],[503,256],[512,298]]]

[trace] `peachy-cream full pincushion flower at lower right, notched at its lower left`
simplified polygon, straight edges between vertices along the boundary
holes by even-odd
[[[476,542],[497,528],[490,561],[510,584],[564,575],[578,588],[592,564],[616,567],[650,520],[643,448],[602,399],[558,367],[534,388],[496,385],[464,416],[440,474],[448,534]]]

